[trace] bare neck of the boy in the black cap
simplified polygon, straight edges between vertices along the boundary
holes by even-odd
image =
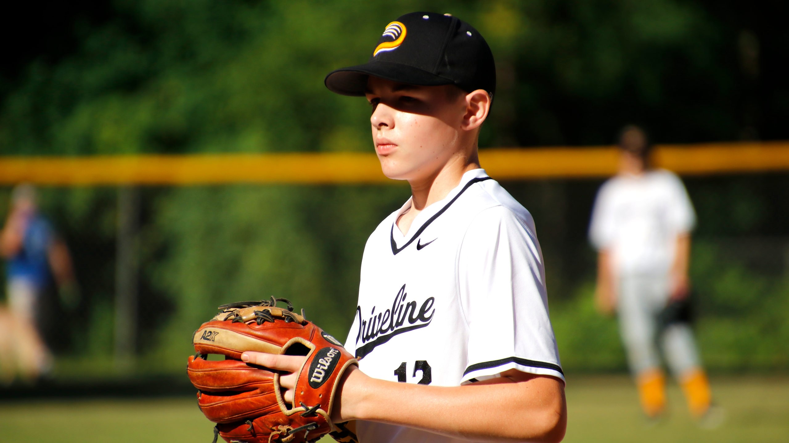
[[[431,175],[418,180],[409,180],[409,185],[411,185],[411,207],[398,219],[397,225],[400,231],[404,235],[407,234],[411,223],[424,208],[436,203],[436,201],[443,200],[451,190],[458,186],[466,172],[479,167],[479,156],[477,156],[477,150],[474,149],[473,154],[470,156],[453,156],[444,167]]]

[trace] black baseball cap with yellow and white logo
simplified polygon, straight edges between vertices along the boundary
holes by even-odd
[[[332,92],[364,96],[368,76],[407,84],[455,84],[466,92],[495,92],[488,43],[470,24],[439,13],[408,13],[387,25],[364,65],[331,71]]]

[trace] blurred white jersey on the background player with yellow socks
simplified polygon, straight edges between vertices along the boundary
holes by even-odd
[[[693,205],[673,173],[646,171],[608,180],[597,193],[589,238],[610,249],[620,274],[663,274],[671,268],[676,235],[691,231]]]

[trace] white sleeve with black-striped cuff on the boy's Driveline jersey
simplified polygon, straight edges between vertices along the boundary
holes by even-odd
[[[564,379],[533,225],[507,208],[481,212],[458,251],[458,279],[469,337],[462,383],[510,369]]]

